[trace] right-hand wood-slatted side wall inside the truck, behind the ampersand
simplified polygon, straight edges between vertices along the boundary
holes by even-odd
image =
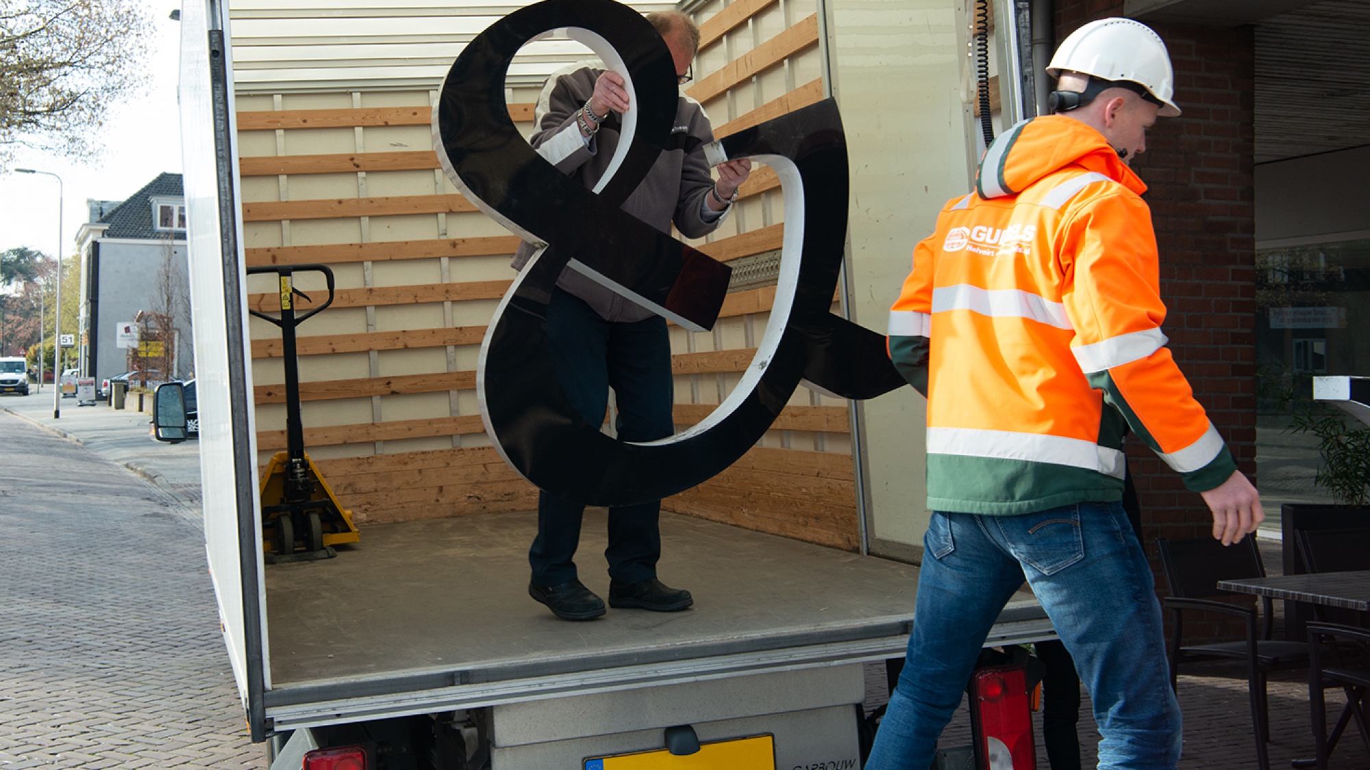
[[[708,71],[688,93],[708,111],[715,136],[727,136],[823,99],[818,18],[803,3],[715,0],[696,12],[700,56],[696,71]],[[758,40],[758,29],[781,30]],[[755,189],[751,189],[755,185]],[[781,248],[784,197],[769,169],[754,171],[729,225],[701,251],[723,262]],[[745,352],[759,341],[774,289],[729,297],[734,311],[712,333],[675,330],[677,348]],[[748,307],[749,303],[751,307]],[[680,356],[678,356],[680,358]],[[700,359],[712,360],[712,359]],[[678,377],[677,421],[704,415],[736,382],[727,374]],[[684,382],[689,386],[685,388]],[[695,422],[695,421],[690,421]],[[858,548],[856,489],[851,456],[851,418],[843,400],[800,389],[754,448],[732,469],[696,489],[663,503],[667,510],[748,529]]]

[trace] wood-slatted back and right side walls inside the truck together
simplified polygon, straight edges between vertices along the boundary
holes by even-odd
[[[700,78],[689,89],[726,136],[823,97],[815,8],[734,0],[699,11]],[[778,30],[752,40],[754,29]],[[434,84],[436,88],[437,84]],[[532,130],[536,92],[510,114]],[[429,149],[433,92],[240,99],[242,216],[251,266],[330,264],[329,310],[299,330],[304,443],[359,523],[527,510],[536,490],[489,447],[475,352],[518,247],[443,177]],[[775,173],[758,166],[723,227],[695,243],[723,262],[784,237]],[[306,274],[307,275],[307,274]],[[322,301],[319,282],[300,286]],[[267,278],[249,306],[275,307]],[[675,422],[704,419],[745,371],[774,286],[729,295],[719,325],[673,327]],[[253,321],[258,444],[285,447],[279,332]],[[838,548],[856,547],[845,401],[801,390],[773,430],[717,480],[667,510]]]

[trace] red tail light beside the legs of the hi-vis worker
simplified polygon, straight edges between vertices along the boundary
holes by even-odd
[[[971,685],[970,728],[980,770],[1037,770],[1022,667],[981,669]]]

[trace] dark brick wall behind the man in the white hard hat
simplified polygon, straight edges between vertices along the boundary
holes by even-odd
[[[1058,0],[1056,40],[1082,23],[1119,15],[1117,0]],[[1133,169],[1149,186],[1160,245],[1160,292],[1170,349],[1199,403],[1255,480],[1255,41],[1251,27],[1225,30],[1151,25],[1175,69],[1180,118],[1162,118]],[[1207,537],[1203,500],[1156,456],[1132,443],[1129,462],[1143,510],[1143,532],[1156,559],[1156,537]],[[1191,625],[1185,636],[1228,637],[1234,628]]]

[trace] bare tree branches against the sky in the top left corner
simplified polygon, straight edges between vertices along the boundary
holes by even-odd
[[[0,164],[16,145],[93,158],[110,107],[145,89],[148,8],[0,0]]]

